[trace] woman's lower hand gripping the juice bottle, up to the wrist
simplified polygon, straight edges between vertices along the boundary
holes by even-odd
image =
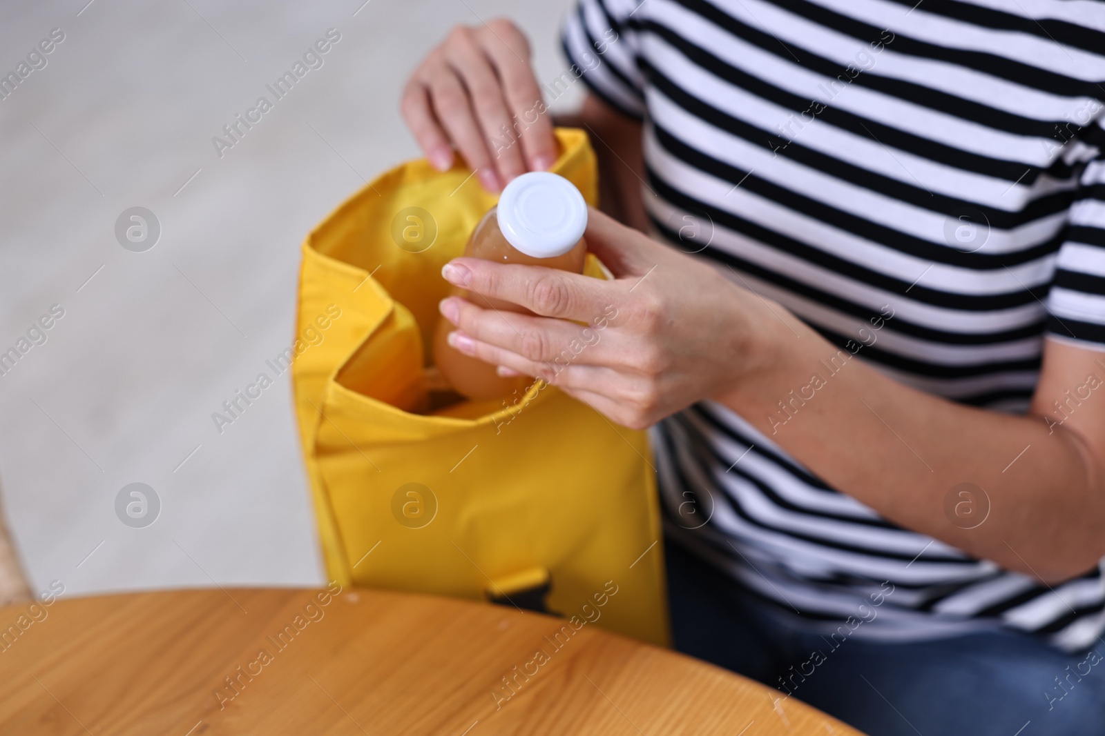
[[[503,375],[540,377],[635,429],[771,364],[782,326],[766,301],[597,210],[585,237],[614,280],[477,258],[446,264],[445,279],[475,295],[475,303],[442,300],[441,313],[457,327],[450,344]],[[490,308],[483,297],[535,316]]]

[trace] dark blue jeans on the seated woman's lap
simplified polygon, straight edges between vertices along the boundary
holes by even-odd
[[[678,651],[777,689],[782,676],[796,698],[870,736],[1105,734],[1105,644],[1067,654],[1001,631],[832,649],[675,543],[665,554]]]

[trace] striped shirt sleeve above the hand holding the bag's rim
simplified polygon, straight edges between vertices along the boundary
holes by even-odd
[[[555,99],[576,79],[633,119],[644,117],[644,76],[638,65],[633,13],[640,0],[579,0],[561,31],[570,68],[546,95]],[[549,102],[552,102],[551,99]]]

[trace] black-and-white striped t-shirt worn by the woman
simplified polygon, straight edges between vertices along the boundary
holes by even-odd
[[[1105,350],[1105,2],[580,0],[564,46],[644,121],[656,233],[886,375],[1023,412],[1045,334]],[[857,636],[1105,629],[1105,565],[971,558],[719,404],[654,447],[670,537],[803,618],[888,594]]]

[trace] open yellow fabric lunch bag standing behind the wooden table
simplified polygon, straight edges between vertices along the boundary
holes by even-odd
[[[552,171],[597,200],[586,134]],[[291,363],[328,574],[488,599],[667,642],[646,436],[540,382],[429,412],[441,267],[495,204],[471,173],[409,161],[307,235]],[[585,273],[603,278],[588,255]],[[578,627],[577,627],[578,628]]]

